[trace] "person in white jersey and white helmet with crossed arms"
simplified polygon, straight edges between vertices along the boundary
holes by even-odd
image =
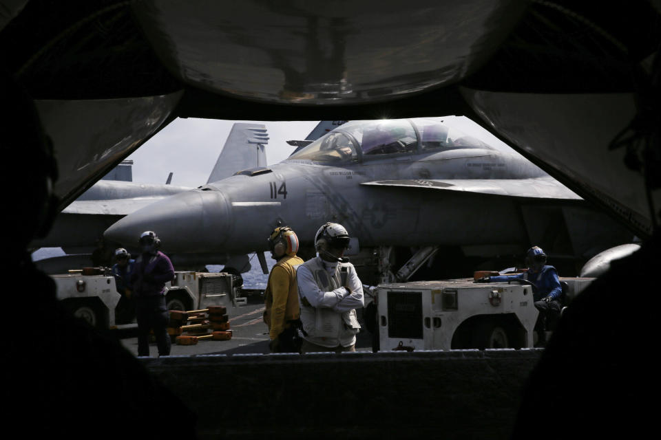
[[[315,234],[319,254],[298,267],[303,353],[355,351],[356,309],[364,306],[364,296],[355,267],[343,258],[348,245],[342,225],[325,223]]]

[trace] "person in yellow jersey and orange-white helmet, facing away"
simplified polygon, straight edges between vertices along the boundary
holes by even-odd
[[[271,257],[277,261],[271,269],[264,291],[264,322],[269,326],[271,353],[298,353],[302,340],[296,269],[303,260],[296,256],[298,237],[288,226],[275,228],[269,236]]]

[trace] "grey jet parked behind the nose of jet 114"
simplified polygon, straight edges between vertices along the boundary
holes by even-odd
[[[233,124],[207,181],[217,181],[231,176],[236,170],[266,164],[264,146],[268,142],[269,134],[264,124],[239,122]],[[38,265],[42,270],[59,273],[90,265],[90,253],[109,225],[151,203],[192,189],[169,184],[171,175],[165,184],[142,184],[125,181],[131,179],[129,170],[117,171],[121,172],[114,172],[110,177],[120,177],[123,180],[101,179],[96,182],[56,217],[48,236],[31,243],[32,248],[59,247],[67,253],[65,256],[39,261]],[[112,243],[107,243],[107,246],[114,249]],[[225,253],[222,255],[212,253],[204,256],[173,256],[173,258],[174,263],[180,268],[190,267],[199,270],[207,264],[227,263],[237,268],[238,272],[245,272],[250,268],[245,255],[228,256]]]

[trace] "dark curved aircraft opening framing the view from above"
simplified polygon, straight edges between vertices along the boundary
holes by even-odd
[[[623,14],[570,1],[246,0],[227,13],[202,0],[0,0],[0,56],[54,141],[61,208],[176,117],[452,113],[483,121],[644,237],[660,191],[647,197],[622,157],[645,162],[646,131],[632,121],[653,107],[637,98],[653,96],[661,14],[630,3]]]

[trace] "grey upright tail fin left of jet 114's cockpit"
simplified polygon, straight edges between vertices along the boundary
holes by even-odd
[[[236,171],[266,166],[264,145],[269,143],[269,133],[264,124],[236,122],[211,170],[207,184],[230,177]]]

